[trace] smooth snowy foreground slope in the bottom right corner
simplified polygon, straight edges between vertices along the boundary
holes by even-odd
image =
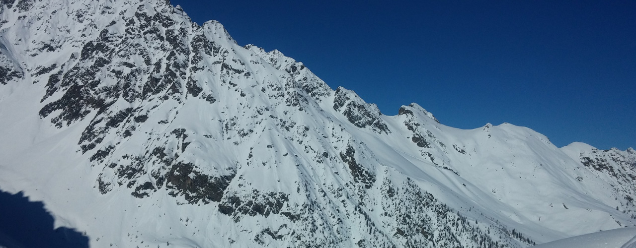
[[[532,248],[636,248],[636,228],[618,228],[563,238]]]

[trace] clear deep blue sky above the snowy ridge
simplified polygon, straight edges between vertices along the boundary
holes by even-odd
[[[515,3],[513,3],[515,2]],[[184,1],[387,115],[509,122],[558,147],[636,148],[636,1]]]

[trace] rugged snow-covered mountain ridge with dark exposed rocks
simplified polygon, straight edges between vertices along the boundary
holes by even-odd
[[[632,148],[383,115],[166,1],[0,3],[0,189],[91,247],[527,247],[636,224]]]

